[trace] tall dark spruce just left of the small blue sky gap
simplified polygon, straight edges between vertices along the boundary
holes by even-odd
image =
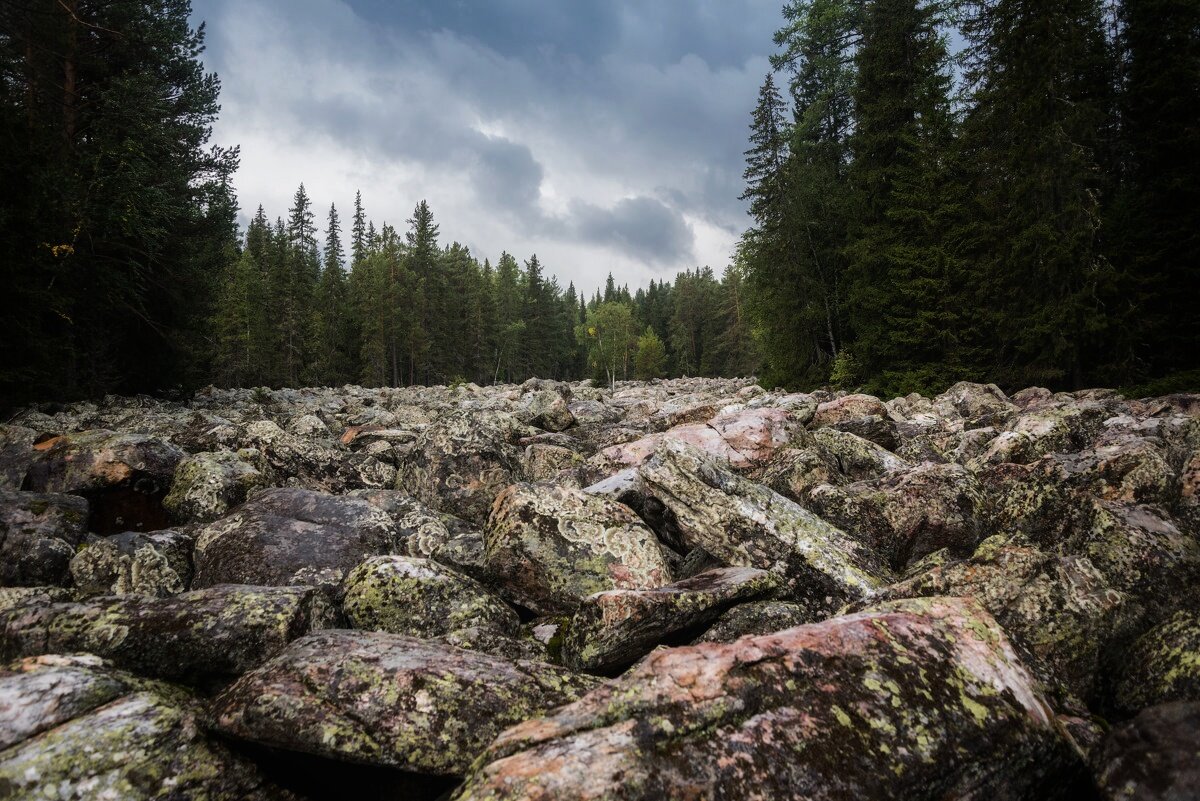
[[[857,53],[847,247],[853,365],[883,396],[938,392],[962,375],[944,20],[929,0],[874,0]]]

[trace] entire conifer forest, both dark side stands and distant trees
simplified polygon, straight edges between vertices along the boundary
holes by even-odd
[[[209,140],[220,83],[188,13],[0,10],[5,405],[533,375],[1196,384],[1193,1],[790,0],[737,253],[632,289],[473,254],[425,201],[377,224],[371,187],[349,207],[300,185],[239,230],[253,199]]]

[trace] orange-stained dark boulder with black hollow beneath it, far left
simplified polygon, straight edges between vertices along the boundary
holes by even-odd
[[[167,528],[162,499],[184,458],[170,442],[96,429],[46,440],[36,450],[24,488],[83,495],[96,534]]]

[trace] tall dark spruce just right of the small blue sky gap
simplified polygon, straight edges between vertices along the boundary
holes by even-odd
[[[1079,387],[1104,350],[1096,149],[1109,94],[1098,0],[973,2],[962,147],[979,222],[968,258],[988,375]]]

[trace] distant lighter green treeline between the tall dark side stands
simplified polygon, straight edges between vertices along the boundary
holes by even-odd
[[[709,269],[630,294],[608,276],[581,296],[536,255],[480,263],[439,243],[424,200],[401,234],[359,193],[343,249],[336,205],[323,235],[301,185],[287,219],[259,206],[222,271],[212,380],[230,386],[403,386],[751,374],[740,273]],[[318,239],[322,241],[318,242]]]

